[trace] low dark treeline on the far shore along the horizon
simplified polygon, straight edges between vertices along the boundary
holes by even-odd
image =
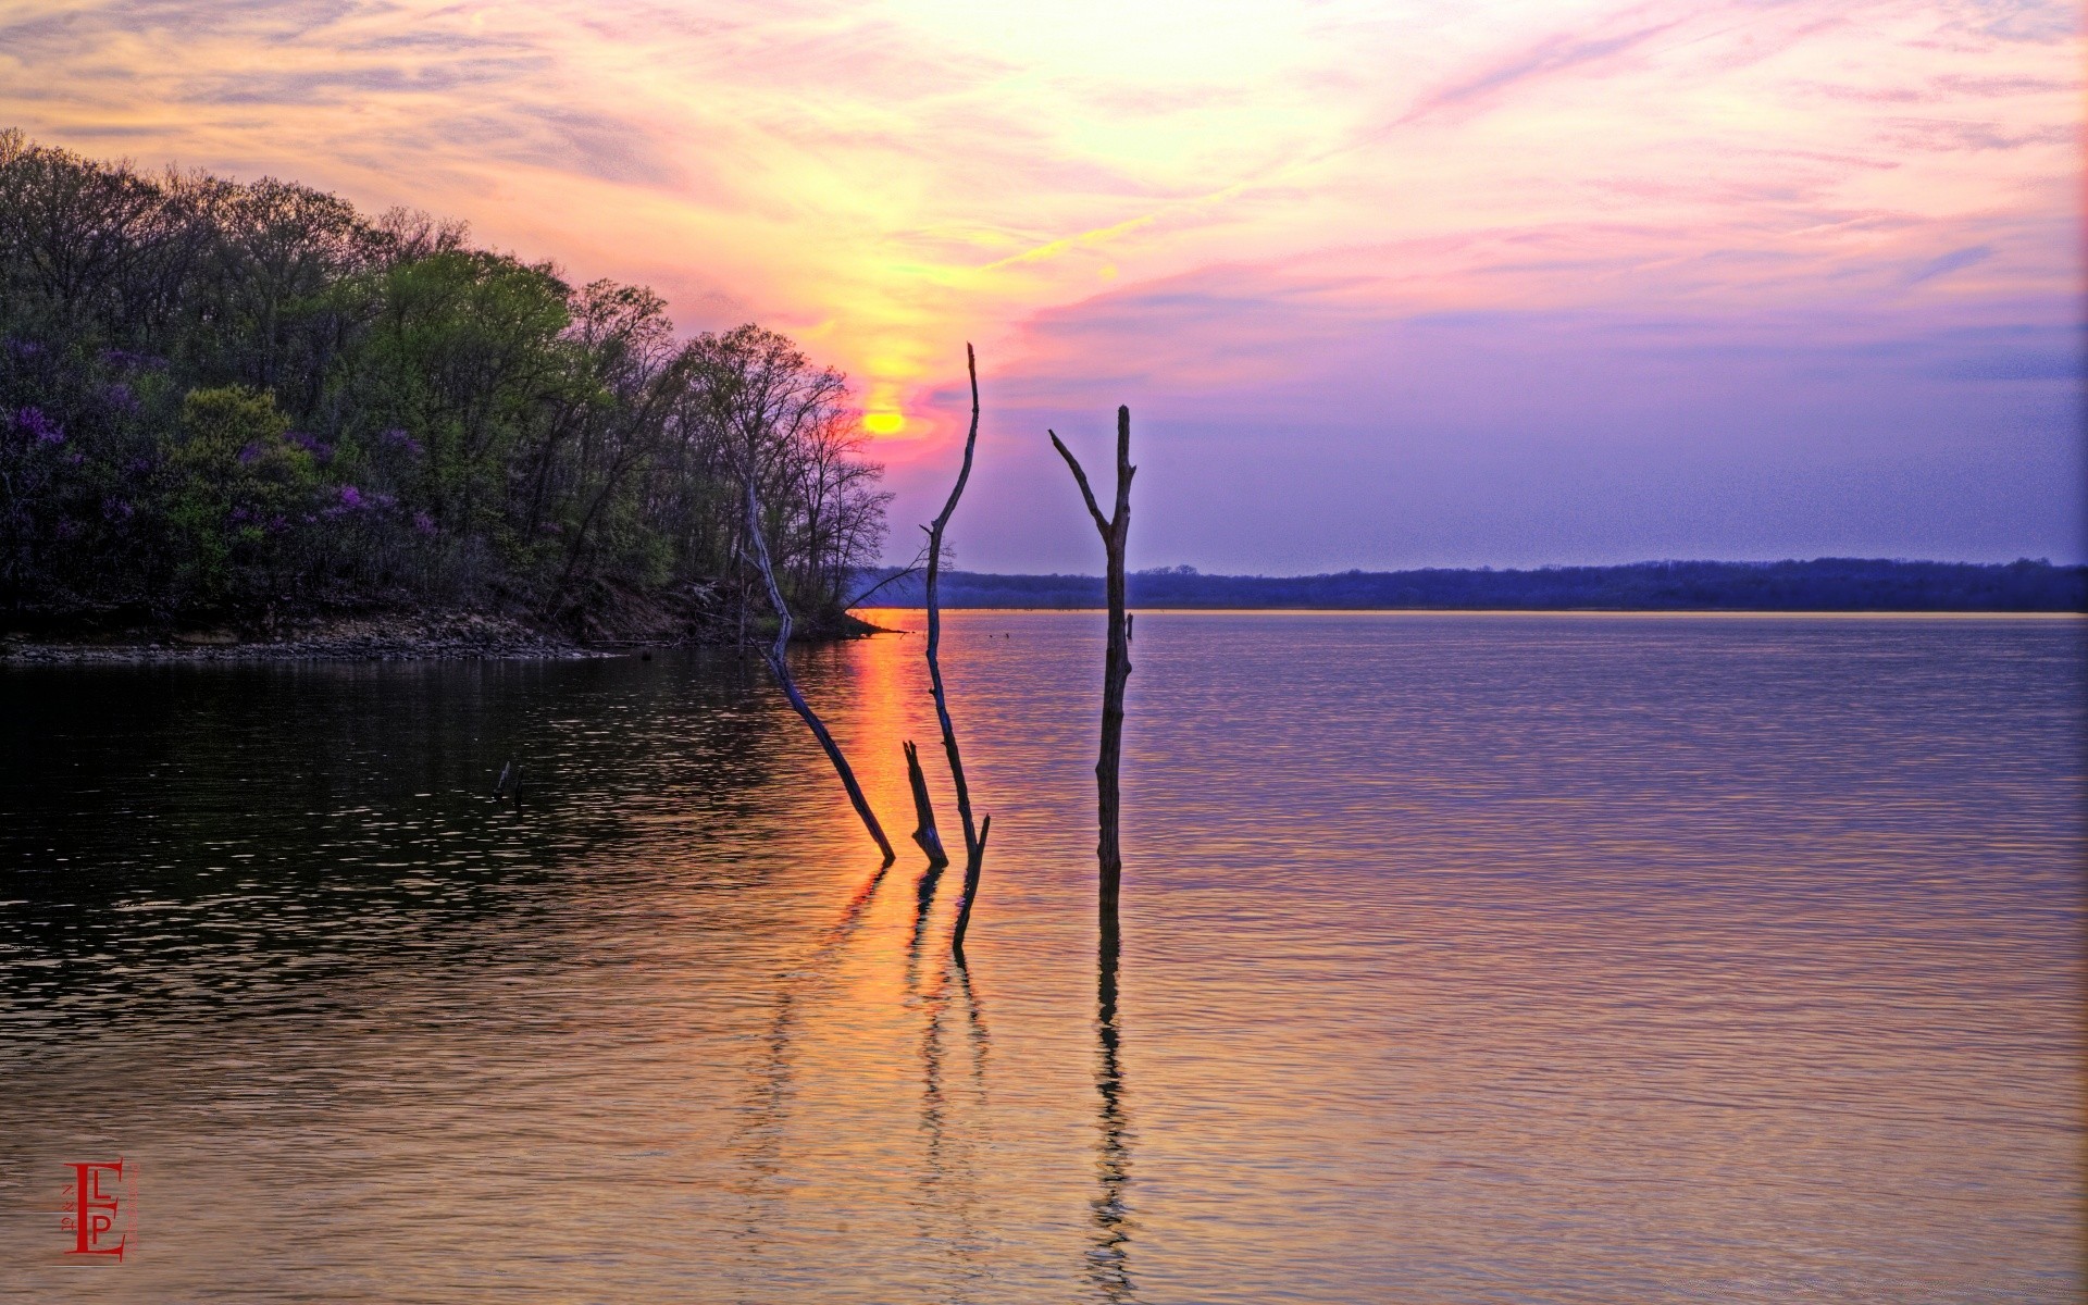
[[[875,585],[896,568],[867,572]],[[1100,576],[944,572],[950,608],[1100,608]],[[1207,576],[1188,566],[1130,576],[1136,608],[1437,608],[1524,612],[2088,612],[2088,566],[2050,562],[1635,562],[1537,570],[1349,570]],[[921,576],[867,606],[919,608]]]

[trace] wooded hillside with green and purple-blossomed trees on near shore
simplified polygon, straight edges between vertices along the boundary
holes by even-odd
[[[0,622],[731,585],[743,470],[789,597],[837,608],[889,495],[783,336],[681,340],[651,290],[453,223],[0,132]]]

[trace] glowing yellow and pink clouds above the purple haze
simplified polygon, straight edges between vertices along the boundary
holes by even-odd
[[[8,15],[0,123],[461,215],[654,284],[685,328],[787,330],[852,374],[902,489],[960,432],[967,338],[990,426],[1123,397],[1257,418],[1303,388],[1368,441],[1378,405],[1443,401],[1382,353],[1418,322],[1741,353],[2075,322],[2063,4]],[[1334,374],[1370,382],[1357,411]]]

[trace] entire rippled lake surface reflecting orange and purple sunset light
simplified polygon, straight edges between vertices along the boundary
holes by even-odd
[[[0,1297],[2080,1297],[2080,622],[1142,616],[1113,1002],[1100,618],[950,626],[969,971],[729,658],[0,672]]]

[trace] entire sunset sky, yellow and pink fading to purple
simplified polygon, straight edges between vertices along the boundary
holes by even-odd
[[[858,386],[894,557],[2084,555],[2071,4],[0,0],[0,125],[468,219]]]

